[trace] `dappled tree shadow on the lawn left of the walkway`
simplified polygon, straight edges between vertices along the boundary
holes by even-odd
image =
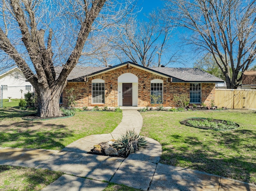
[[[64,125],[40,121],[8,123],[1,126],[0,146],[61,150],[66,146],[61,141],[73,137],[73,132]]]

